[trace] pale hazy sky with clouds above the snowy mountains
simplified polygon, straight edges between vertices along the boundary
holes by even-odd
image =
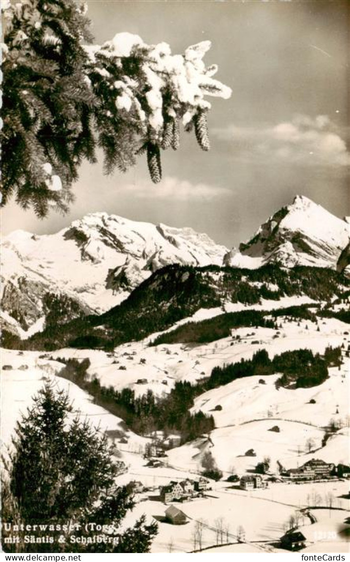
[[[216,76],[232,88],[210,98],[211,150],[182,134],[163,153],[163,181],[151,183],[143,156],[127,174],[106,178],[83,165],[76,201],[65,217],[39,221],[5,208],[3,231],[55,232],[88,212],[192,226],[233,246],[281,206],[303,194],[335,215],[350,214],[347,115],[350,4],[342,0],[88,0],[97,43],[120,31],[173,53],[203,39]]]

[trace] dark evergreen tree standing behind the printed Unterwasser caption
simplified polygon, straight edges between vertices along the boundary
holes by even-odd
[[[55,391],[51,384],[34,397],[34,406],[17,423],[5,473],[2,475],[2,522],[24,525],[54,525],[48,533],[31,532],[53,543],[6,543],[12,531],[2,533],[3,549],[8,552],[147,552],[156,534],[156,524],[145,518],[120,532],[118,527],[133,507],[125,487],[116,487],[115,477],[122,464],[111,456],[107,437],[76,416],[67,393]],[[80,530],[57,527],[68,522]],[[89,523],[107,525],[109,542],[89,542],[98,535]],[[71,535],[86,538],[86,543],[71,543]],[[102,533],[103,534],[103,533]],[[62,539],[63,537],[63,539]]]

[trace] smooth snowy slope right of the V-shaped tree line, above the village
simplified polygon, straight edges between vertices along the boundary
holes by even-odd
[[[329,379],[319,386],[288,390],[275,388],[278,375],[239,379],[204,393],[192,411],[213,414],[216,429],[210,439],[187,443],[169,451],[170,463],[194,469],[204,451],[212,452],[224,474],[252,472],[264,457],[293,468],[316,457],[328,463],[349,462],[349,361],[329,369]],[[259,383],[263,379],[264,384]],[[315,404],[310,400],[315,400]],[[222,406],[221,411],[214,407]],[[341,429],[322,446],[325,427],[333,419]],[[278,430],[272,428],[278,427]],[[308,449],[311,439],[312,451]],[[246,456],[253,449],[255,456]],[[234,467],[234,469],[233,469]]]

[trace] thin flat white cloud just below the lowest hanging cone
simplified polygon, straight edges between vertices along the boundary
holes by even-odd
[[[154,185],[150,181],[141,180],[137,184],[120,186],[119,191],[138,199],[157,201],[213,201],[231,195],[230,189],[208,185],[205,183],[191,183],[167,176],[160,184]]]

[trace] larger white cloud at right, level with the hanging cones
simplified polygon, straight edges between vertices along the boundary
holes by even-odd
[[[342,132],[327,115],[313,119],[297,115],[291,121],[260,127],[228,125],[213,130],[228,140],[237,156],[250,160],[269,159],[308,166],[348,166],[350,152]]]

